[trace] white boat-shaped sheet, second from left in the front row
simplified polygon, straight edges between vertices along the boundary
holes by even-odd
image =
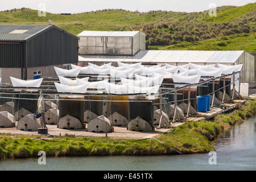
[[[88,88],[88,84],[85,85],[76,85],[76,86],[68,86],[68,85],[63,85],[63,84],[59,84],[57,82],[54,82],[57,92],[63,92],[63,93],[85,93],[87,88]]]

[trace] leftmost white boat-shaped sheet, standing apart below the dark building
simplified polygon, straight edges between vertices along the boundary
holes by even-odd
[[[14,77],[11,77],[10,76],[10,79],[11,79],[11,83],[13,84],[14,87],[40,87],[42,81],[43,81],[43,78],[39,78],[39,79],[36,79],[36,80],[20,80],[18,78],[14,78]]]

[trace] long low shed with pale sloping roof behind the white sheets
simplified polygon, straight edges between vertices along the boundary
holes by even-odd
[[[88,65],[94,63],[101,65],[104,63],[142,63],[142,65],[172,64],[184,65],[188,63],[210,65],[226,64],[238,65],[243,64],[241,70],[242,83],[248,83],[254,87],[254,55],[246,51],[160,51],[146,50],[139,51],[134,56],[106,56],[106,55],[79,55],[78,65]]]

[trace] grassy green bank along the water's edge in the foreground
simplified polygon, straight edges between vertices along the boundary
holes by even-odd
[[[220,114],[213,121],[188,122],[155,139],[113,139],[45,137],[0,134],[0,158],[81,155],[173,155],[213,151],[211,140],[236,122],[256,114],[256,101],[238,104],[232,113]],[[161,143],[162,142],[162,143]]]

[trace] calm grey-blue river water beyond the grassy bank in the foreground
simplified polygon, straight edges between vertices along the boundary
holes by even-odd
[[[256,118],[237,123],[214,142],[215,152],[174,156],[85,156],[0,160],[6,170],[230,171],[256,170]],[[41,160],[42,161],[42,160]]]

